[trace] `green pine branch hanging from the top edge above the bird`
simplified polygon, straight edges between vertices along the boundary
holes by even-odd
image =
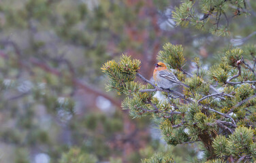
[[[177,26],[187,27],[191,24],[196,29],[208,29],[217,36],[229,36],[229,16],[249,15],[246,5],[247,2],[243,0],[202,0],[199,3],[186,0],[182,1],[179,7],[175,7],[172,18]]]

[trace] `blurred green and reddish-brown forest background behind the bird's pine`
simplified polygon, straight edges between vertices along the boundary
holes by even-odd
[[[256,31],[256,2],[248,2],[251,14],[230,14],[229,35],[217,37],[176,26],[178,0],[1,0],[1,162],[140,162],[160,151],[177,162],[201,157],[191,145],[165,147],[148,118],[131,120],[123,96],[105,92],[100,67],[127,53],[150,79],[165,42],[185,47],[186,69],[196,69],[194,56],[214,65],[227,47],[255,43],[247,36]]]

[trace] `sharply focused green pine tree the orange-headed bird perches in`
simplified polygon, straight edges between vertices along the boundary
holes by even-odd
[[[108,90],[127,96],[122,107],[132,117],[158,120],[168,145],[199,141],[205,162],[256,161],[256,46],[227,50],[210,69],[202,68],[195,58],[197,69],[191,72],[183,69],[182,50],[180,45],[165,43],[157,59],[189,88],[159,88],[140,74],[140,60],[124,54],[118,62],[111,60],[101,67],[108,75]],[[157,91],[165,98],[154,96]],[[143,162],[173,160],[172,156],[156,154]]]

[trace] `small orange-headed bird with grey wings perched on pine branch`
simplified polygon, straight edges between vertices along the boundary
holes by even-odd
[[[174,73],[167,69],[166,65],[163,62],[158,62],[157,64],[155,64],[153,78],[157,86],[163,89],[170,89],[177,85],[189,88],[189,86],[180,82],[180,80],[174,75]]]

